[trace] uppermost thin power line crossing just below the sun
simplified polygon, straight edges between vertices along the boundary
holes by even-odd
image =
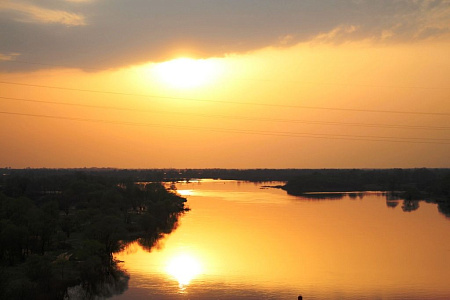
[[[287,104],[256,103],[256,102],[237,102],[237,101],[227,101],[227,100],[196,99],[196,98],[185,98],[185,97],[169,97],[169,96],[133,94],[133,93],[123,93],[123,92],[113,92],[113,91],[78,89],[78,88],[57,87],[57,86],[28,84],[28,83],[19,83],[19,82],[7,82],[7,81],[0,81],[0,84],[19,85],[19,86],[28,86],[28,87],[38,87],[38,88],[48,88],[48,89],[57,89],[57,90],[66,90],[66,91],[88,92],[88,93],[100,93],[100,94],[110,94],[110,95],[120,95],[120,96],[134,96],[134,97],[145,97],[145,98],[159,98],[159,99],[184,100],[184,101],[209,102],[209,103],[234,104],[234,105],[253,105],[253,106],[264,106],[264,107],[335,110],[335,111],[350,111],[350,112],[364,112],[364,113],[389,113],[389,114],[450,116],[450,113],[441,113],[441,112],[414,112],[414,111],[398,111],[398,110],[375,110],[375,109],[320,107],[320,106],[287,105]]]

